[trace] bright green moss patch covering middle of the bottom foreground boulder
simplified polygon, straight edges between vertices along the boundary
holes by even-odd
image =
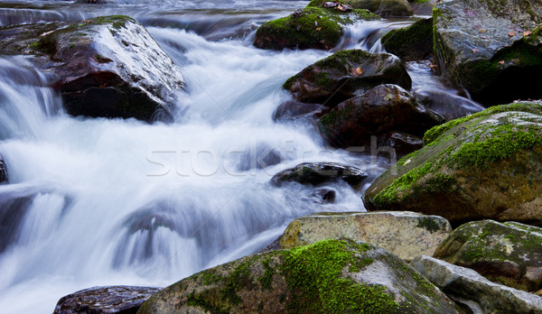
[[[395,313],[398,305],[385,287],[358,284],[341,277],[342,270],[356,263],[353,252],[369,245],[353,241],[323,240],[283,252],[283,273],[294,293],[291,312]]]

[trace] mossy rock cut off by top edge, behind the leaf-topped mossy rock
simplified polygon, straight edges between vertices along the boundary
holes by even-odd
[[[309,6],[322,5],[324,1],[313,0]],[[406,0],[342,0],[342,3],[350,5],[354,9],[364,9],[382,17],[410,16],[414,14],[412,7]]]

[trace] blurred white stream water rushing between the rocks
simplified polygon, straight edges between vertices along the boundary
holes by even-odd
[[[318,211],[363,211],[335,184],[334,204],[269,179],[300,162],[341,162],[374,178],[386,161],[325,147],[311,125],[278,124],[280,86],[330,51],[263,51],[257,26],[304,1],[0,1],[0,25],[129,14],[182,69],[171,124],[64,114],[48,78],[0,55],[0,309],[51,313],[61,296],[96,285],[165,286],[252,254],[288,222]],[[409,21],[356,23],[341,49],[379,51]],[[445,89],[428,69],[415,86]]]

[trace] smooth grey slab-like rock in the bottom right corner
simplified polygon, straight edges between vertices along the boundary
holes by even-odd
[[[429,256],[416,257],[410,265],[472,313],[542,313],[542,298],[490,282],[472,269]]]

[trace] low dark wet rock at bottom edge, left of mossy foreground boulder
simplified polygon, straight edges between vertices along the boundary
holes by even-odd
[[[53,314],[130,314],[161,288],[94,287],[62,297]]]

